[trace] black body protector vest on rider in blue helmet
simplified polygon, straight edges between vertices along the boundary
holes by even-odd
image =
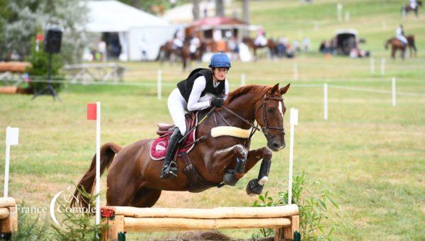
[[[177,88],[179,88],[180,94],[181,96],[183,96],[186,102],[189,101],[189,96],[191,96],[193,83],[195,83],[195,79],[200,76],[205,77],[205,80],[206,80],[205,89],[200,94],[200,97],[205,96],[205,94],[207,93],[214,94],[215,96],[220,96],[220,97],[225,96],[225,81],[220,82],[217,88],[215,88],[213,84],[214,81],[212,79],[212,70],[198,68],[198,69],[194,69],[191,72],[191,74],[189,74],[187,79],[184,79],[177,84]]]

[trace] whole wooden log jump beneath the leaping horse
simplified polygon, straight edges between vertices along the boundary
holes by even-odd
[[[101,209],[103,240],[120,240],[124,232],[215,230],[225,228],[274,228],[275,240],[293,239],[300,218],[295,204],[257,208],[132,208]]]

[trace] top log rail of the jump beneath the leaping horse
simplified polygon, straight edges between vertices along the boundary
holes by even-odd
[[[117,215],[132,218],[283,218],[298,214],[295,204],[262,208],[222,207],[210,209],[197,208],[132,208],[106,207]]]

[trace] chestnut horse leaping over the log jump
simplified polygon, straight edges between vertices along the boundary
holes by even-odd
[[[285,147],[283,115],[285,105],[282,95],[289,89],[289,84],[279,89],[275,86],[248,85],[232,91],[224,106],[211,109],[212,116],[205,118],[196,129],[200,140],[191,152],[176,159],[178,177],[176,179],[159,179],[163,161],[150,158],[149,148],[153,139],[139,140],[127,147],[106,143],[101,147],[101,174],[108,168],[106,205],[151,207],[157,202],[162,190],[200,192],[213,186],[222,186],[226,176],[232,177],[234,186],[254,165],[262,159],[259,179],[252,179],[246,186],[248,194],[261,194],[263,184],[267,181],[271,164],[272,151]],[[205,111],[204,111],[205,113]],[[200,118],[200,116],[198,116]],[[220,125],[232,125],[248,130],[261,126],[266,137],[267,147],[249,150],[249,138],[235,138],[222,135],[211,137],[211,128]],[[251,132],[251,134],[253,134]],[[114,158],[114,156],[116,157]],[[241,168],[239,160],[244,159]],[[239,167],[237,165],[239,164]],[[199,182],[193,182],[184,169],[191,168],[198,174]],[[193,168],[194,167],[194,168]],[[239,172],[232,172],[239,169]],[[263,172],[261,170],[266,170]],[[232,176],[233,175],[233,176]],[[81,196],[79,189],[93,192],[96,177],[96,155],[91,167],[77,185],[72,206],[87,207],[87,199]],[[260,178],[260,175],[259,175]],[[262,183],[261,183],[262,182]],[[226,183],[226,181],[225,181]]]

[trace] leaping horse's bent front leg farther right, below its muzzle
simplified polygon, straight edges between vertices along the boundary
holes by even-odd
[[[259,171],[259,176],[256,179],[251,179],[246,185],[246,194],[248,195],[259,195],[263,191],[263,186],[268,181],[268,172],[270,172],[271,166],[271,156],[272,152],[268,147],[262,147],[256,150],[251,150],[248,153],[248,157],[246,159],[246,172],[249,171],[254,165],[261,161],[261,167]]]

